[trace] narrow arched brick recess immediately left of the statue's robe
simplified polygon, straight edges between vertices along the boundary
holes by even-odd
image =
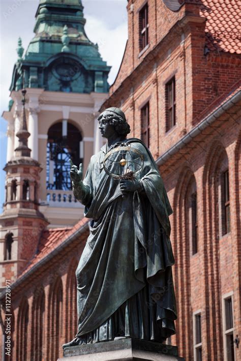
[[[78,262],[74,260],[68,270],[66,284],[66,342],[72,340],[77,332],[77,281],[75,271]]]

